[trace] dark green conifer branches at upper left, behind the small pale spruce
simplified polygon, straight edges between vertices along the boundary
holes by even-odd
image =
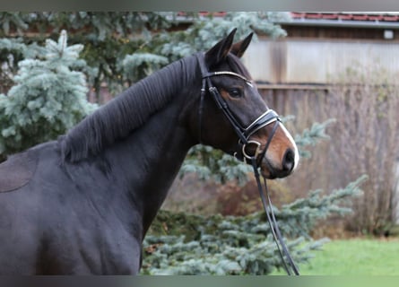
[[[27,46],[41,45],[46,39],[57,39],[61,30],[68,30],[70,43],[84,45],[81,57],[91,70],[83,72],[91,92],[102,103],[102,84],[106,83],[112,94],[126,89],[121,65],[126,55],[153,54],[160,44],[156,35],[169,29],[175,20],[173,12],[0,12],[0,37],[18,39]],[[0,63],[6,63],[7,57],[8,50],[0,47]],[[21,59],[15,58],[15,63]],[[138,80],[128,79],[128,83]]]

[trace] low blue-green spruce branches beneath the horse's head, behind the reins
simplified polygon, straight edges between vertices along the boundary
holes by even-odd
[[[328,240],[311,239],[310,230],[327,216],[351,213],[341,205],[361,194],[366,178],[328,196],[317,190],[280,210],[273,207],[299,269]],[[223,217],[160,211],[143,246],[143,274],[265,275],[283,268],[263,212]]]

